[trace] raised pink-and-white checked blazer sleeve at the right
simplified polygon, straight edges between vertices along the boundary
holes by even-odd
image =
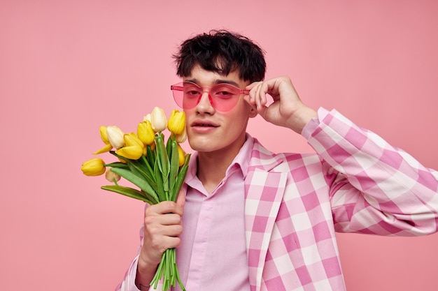
[[[336,110],[320,108],[305,128],[330,179],[335,229],[381,235],[437,232],[438,172],[359,128]]]

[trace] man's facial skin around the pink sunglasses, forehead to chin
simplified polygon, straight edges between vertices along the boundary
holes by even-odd
[[[244,89],[249,82],[239,79],[239,72],[228,75],[204,70],[195,66],[184,81],[194,82],[199,87],[212,87],[218,83],[231,83]],[[236,106],[227,112],[219,112],[211,105],[209,94],[204,93],[199,103],[188,110],[184,110],[187,118],[187,135],[190,147],[199,152],[222,151],[222,154],[237,154],[245,142],[246,125],[249,117],[255,117],[253,110],[243,95],[239,97]]]

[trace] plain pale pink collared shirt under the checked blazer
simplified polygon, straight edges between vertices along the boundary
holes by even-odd
[[[248,138],[225,178],[210,194],[196,176],[197,154],[192,156],[185,179],[188,191],[183,234],[177,249],[178,269],[186,290],[250,290],[243,178],[252,149],[253,139]]]

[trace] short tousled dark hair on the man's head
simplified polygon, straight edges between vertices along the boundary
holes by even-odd
[[[174,54],[176,75],[187,77],[199,64],[204,70],[222,75],[238,69],[244,81],[264,79],[264,51],[252,40],[225,30],[212,30],[185,40]]]

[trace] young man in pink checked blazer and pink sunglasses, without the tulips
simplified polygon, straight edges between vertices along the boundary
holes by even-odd
[[[262,81],[263,52],[248,38],[211,31],[175,58],[184,83],[174,96],[196,152],[177,202],[146,207],[118,290],[148,290],[175,247],[188,291],[344,290],[335,231],[437,232],[438,172],[339,112],[307,107],[288,77]],[[264,149],[246,133],[257,114],[316,154]]]

